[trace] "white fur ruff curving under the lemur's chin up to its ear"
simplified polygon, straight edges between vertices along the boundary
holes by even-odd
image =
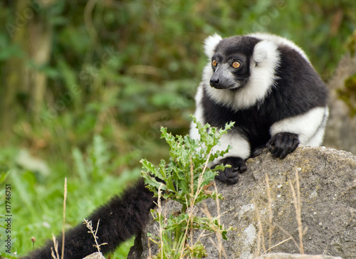
[[[271,41],[261,41],[256,44],[251,60],[251,76],[244,88],[231,90],[221,90],[210,87],[210,78],[213,70],[210,63],[203,71],[203,82],[206,93],[217,103],[230,107],[232,110],[243,110],[258,101],[263,101],[272,90],[276,77],[276,68],[280,61],[279,53],[275,43]]]

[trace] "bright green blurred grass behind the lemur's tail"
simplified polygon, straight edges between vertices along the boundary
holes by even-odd
[[[68,181],[66,202],[66,228],[83,221],[96,207],[105,203],[114,194],[120,194],[127,184],[140,175],[140,169],[127,169],[115,173],[115,154],[103,139],[95,136],[87,152],[78,149],[73,152],[75,166],[70,169],[61,161],[49,164],[49,174],[41,174],[34,169],[21,168],[16,162],[19,149],[8,148],[0,152],[2,165],[0,192],[0,239],[6,240],[4,228],[5,184],[11,184],[11,253],[0,247],[3,258],[16,258],[32,250],[31,237],[36,238],[35,248],[39,248],[52,233],[61,232],[63,223],[64,178]],[[111,152],[111,153],[110,153]],[[71,154],[68,154],[71,156]],[[5,166],[6,165],[6,166]],[[9,171],[7,168],[11,168]],[[79,173],[80,171],[80,173]],[[7,172],[7,173],[6,173]],[[4,179],[5,178],[5,179]],[[90,235],[90,233],[88,233]],[[98,231],[100,236],[100,229]],[[111,258],[126,258],[133,240],[123,243]],[[17,252],[14,255],[14,252]]]

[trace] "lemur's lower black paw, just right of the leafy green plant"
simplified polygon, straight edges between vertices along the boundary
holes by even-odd
[[[216,179],[224,184],[236,184],[239,181],[239,174],[247,170],[246,163],[241,157],[227,157],[222,159],[221,163],[231,165],[231,167],[226,168],[224,171],[219,171],[219,174],[215,176]]]

